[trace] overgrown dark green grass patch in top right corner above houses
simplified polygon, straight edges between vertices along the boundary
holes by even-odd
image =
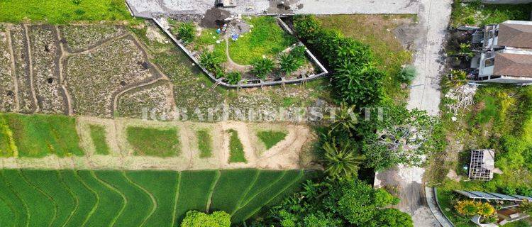
[[[480,1],[466,4],[461,0],[455,0],[453,13],[451,13],[451,25],[454,27],[484,26],[508,20],[529,21],[531,11],[532,4],[481,4]]]

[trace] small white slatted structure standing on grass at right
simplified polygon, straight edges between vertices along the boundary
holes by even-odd
[[[472,150],[469,165],[469,179],[493,179],[495,151],[489,149]]]

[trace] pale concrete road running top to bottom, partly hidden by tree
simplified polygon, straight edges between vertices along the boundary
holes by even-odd
[[[419,0],[419,37],[416,39],[414,66],[418,76],[412,82],[409,109],[421,109],[432,116],[439,114],[440,76],[443,47],[452,0]],[[419,167],[397,167],[377,173],[375,186],[399,187],[401,211],[411,214],[414,226],[440,226],[429,209],[423,186],[425,170]],[[446,223],[443,223],[444,226]]]

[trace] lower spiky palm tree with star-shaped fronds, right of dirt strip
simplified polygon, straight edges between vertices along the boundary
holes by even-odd
[[[324,143],[322,148],[324,151],[322,162],[329,176],[350,178],[358,175],[359,166],[365,157],[360,155],[349,142],[338,146],[333,140],[332,143]]]

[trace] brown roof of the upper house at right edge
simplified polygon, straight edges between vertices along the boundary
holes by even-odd
[[[504,21],[499,24],[497,45],[513,48],[532,48],[532,22]]]

